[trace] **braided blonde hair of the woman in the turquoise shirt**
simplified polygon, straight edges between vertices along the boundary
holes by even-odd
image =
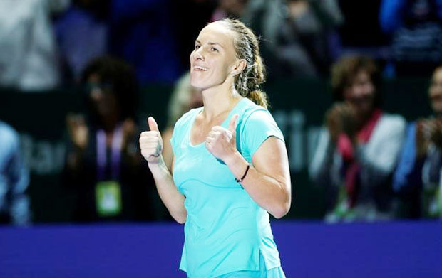
[[[225,18],[218,22],[225,24],[230,31],[235,32],[233,45],[237,58],[245,59],[247,62],[242,73],[235,76],[235,89],[243,97],[267,108],[267,94],[260,87],[265,81],[265,68],[259,55],[257,37],[250,28],[237,19]]]

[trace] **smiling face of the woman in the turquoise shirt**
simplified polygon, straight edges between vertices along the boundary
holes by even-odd
[[[237,61],[234,33],[222,23],[210,23],[200,32],[190,54],[190,84],[200,90],[222,85],[232,78]]]

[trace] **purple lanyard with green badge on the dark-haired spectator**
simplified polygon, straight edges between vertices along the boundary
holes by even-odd
[[[101,217],[115,216],[121,213],[121,187],[118,182],[120,177],[121,143],[123,134],[121,127],[117,127],[112,137],[111,145],[111,178],[106,177],[106,133],[97,131],[97,180],[95,188],[96,211]]]

